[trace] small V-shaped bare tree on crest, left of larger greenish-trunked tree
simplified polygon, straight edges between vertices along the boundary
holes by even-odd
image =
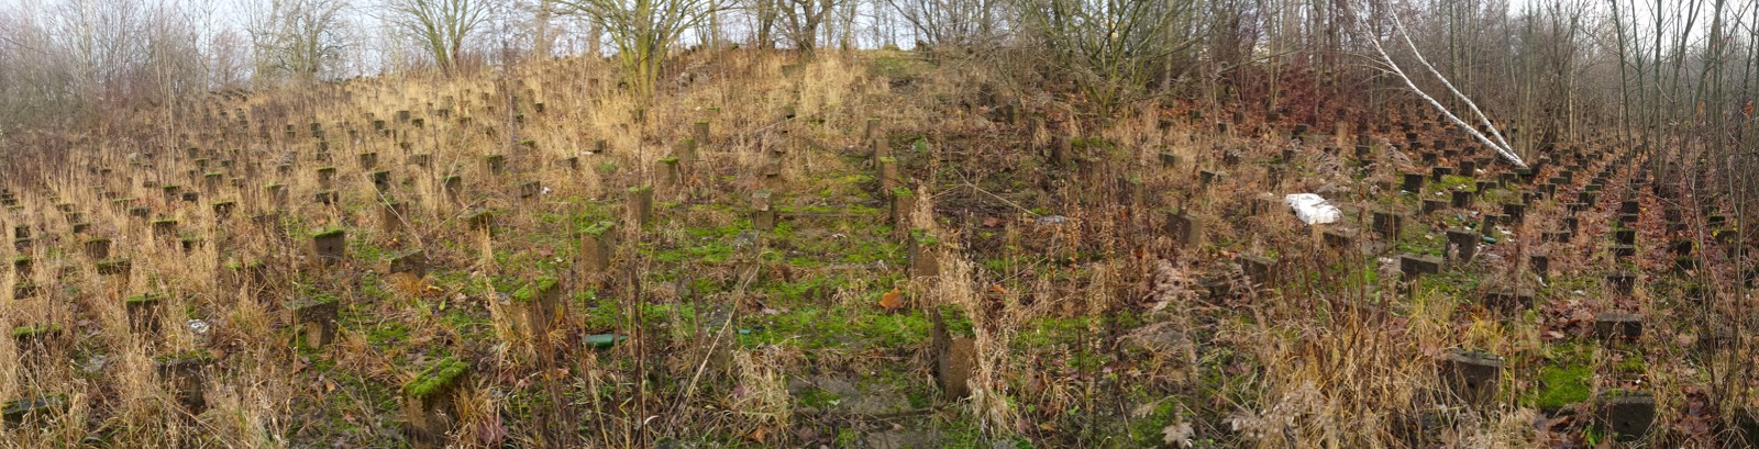
[[[484,0],[390,0],[385,7],[390,23],[420,42],[445,74],[454,74],[464,40],[484,23],[487,11]]]

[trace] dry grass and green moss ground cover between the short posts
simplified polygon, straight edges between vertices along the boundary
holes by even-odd
[[[1432,430],[1437,438],[1520,447],[1601,435],[1587,419],[1534,431],[1539,409],[1576,407],[1592,391],[1638,377],[1664,407],[1682,407],[1694,400],[1690,386],[1703,384],[1703,372],[1680,368],[1701,354],[1650,344],[1609,347],[1587,337],[1585,314],[1669,316],[1676,307],[1652,293],[1599,295],[1609,256],[1595,230],[1608,228],[1613,195],[1583,214],[1583,232],[1569,246],[1539,244],[1537,233],[1562,216],[1543,200],[1478,263],[1423,279],[1416,295],[1395,295],[1390,274],[1397,270],[1384,261],[1326,251],[1281,210],[1247,212],[1263,191],[1325,189],[1360,209],[1414,210],[1414,196],[1376,191],[1377,182],[1414,170],[1391,156],[1356,172],[1319,146],[1305,146],[1291,161],[1295,175],[1274,189],[1263,161],[1289,144],[1258,130],[1286,132],[1293,126],[1286,121],[1252,118],[1235,123],[1231,135],[1214,135],[1207,125],[1171,119],[1186,114],[1168,109],[1098,130],[1047,130],[1041,121],[1001,121],[973,88],[989,81],[915,54],[869,53],[797,68],[744,54],[690,58],[688,72],[698,81],[674,86],[677,93],[651,109],[610,95],[607,72],[584,61],[522,68],[505,81],[371,79],[209,98],[204,109],[260,107],[267,118],[250,112],[248,126],[227,128],[199,123],[192,112],[172,126],[183,137],[169,147],[216,151],[211,158],[227,160],[230,175],[259,163],[262,175],[243,179],[243,188],[220,188],[195,203],[162,202],[142,181],[197,186],[183,179],[197,161],[160,151],[157,167],[128,168],[128,182],[56,179],[49,191],[58,200],[25,193],[30,210],[72,202],[91,216],[97,233],[151,240],[144,224],[104,207],[90,188],[107,186],[153,216],[179,219],[202,244],[190,256],[148,244],[125,247],[135,261],[128,281],[79,268],[74,279],[81,281],[69,284],[91,288],[55,293],[60,302],[9,302],[7,316],[19,317],[14,324],[77,326],[62,347],[76,365],[95,356],[109,365],[23,368],[26,349],[0,346],[0,360],[11,363],[0,393],[72,395],[74,416],[81,416],[42,431],[7,426],[0,437],[21,445],[86,435],[148,445],[399,445],[406,421],[399,389],[447,358],[471,365],[449,438],[480,445],[1145,447],[1189,428],[1201,445],[1367,447],[1400,445],[1402,423],[1435,419],[1456,426]],[[545,110],[536,112],[535,102]],[[1027,116],[1061,119],[1050,103],[1022,103]],[[779,119],[786,105],[795,107],[795,119]],[[278,109],[288,112],[269,112]],[[396,121],[403,109],[424,123]],[[449,112],[442,118],[429,109]],[[637,110],[644,119],[633,119]],[[368,114],[387,119],[390,132],[373,132]],[[902,268],[906,246],[888,221],[876,167],[862,153],[867,118],[880,119],[904,177],[923,196],[913,223],[946,251],[939,281],[909,279]],[[1168,118],[1164,130],[1161,118]],[[656,188],[658,223],[617,226],[609,274],[579,274],[579,230],[621,221],[626,189],[661,179],[660,160],[675,154],[698,119],[712,132],[690,184]],[[320,123],[324,137],[311,137],[308,123]],[[127,126],[142,135],[155,130]],[[216,128],[227,132],[202,135]],[[1071,147],[1096,168],[1052,167],[1034,154],[1062,133],[1080,137]],[[595,140],[607,140],[609,154],[584,154]],[[315,160],[318,142],[331,161]],[[763,154],[777,147],[783,181],[767,182]],[[1245,160],[1223,167],[1217,147]],[[113,161],[134,151],[99,149]],[[243,153],[230,156],[230,149]],[[292,174],[274,172],[280,149],[299,154]],[[1161,167],[1161,151],[1182,161]],[[369,170],[355,161],[361,153],[378,154],[392,170],[396,186],[387,196],[410,203],[399,230],[382,228],[380,196],[362,181]],[[433,168],[408,165],[408,154],[429,154]],[[510,154],[514,168],[485,174],[484,154]],[[559,163],[566,156],[577,156],[579,168]],[[338,167],[341,202],[334,207],[308,202],[324,189],[317,167]],[[1226,175],[1201,188],[1198,168]],[[464,177],[456,202],[440,188],[449,174]],[[1124,186],[1140,189],[1124,198],[1110,179],[1131,179]],[[517,186],[526,181],[551,193],[522,200]],[[292,191],[290,209],[276,219],[281,228],[245,224],[253,223],[250,214],[273,209],[259,195],[269,182]],[[1449,177],[1430,191],[1469,184]],[[783,219],[770,232],[751,226],[746,195],[756,188],[777,193]],[[239,200],[243,212],[209,224],[216,219],[204,205],[220,198]],[[1486,198],[1478,210],[1416,217],[1397,242],[1379,244],[1441,254],[1442,228],[1478,223],[1518,193],[1497,189]],[[459,219],[471,209],[494,210],[487,239]],[[1170,209],[1198,216],[1205,242],[1171,244],[1161,228],[1161,210]],[[1650,230],[1657,209],[1643,217]],[[931,216],[934,223],[925,224]],[[1050,216],[1066,223],[1052,224]],[[1349,217],[1351,226],[1367,226],[1356,219]],[[42,214],[33,224],[67,235],[70,223]],[[299,256],[301,247],[329,228],[345,230],[350,260],[318,268]],[[1529,312],[1479,307],[1486,291],[1534,286],[1514,270],[1523,267],[1522,251],[1534,247],[1553,254],[1557,272],[1537,288],[1541,305]],[[422,277],[387,274],[382,258],[408,249],[424,249],[433,268]],[[37,254],[84,267],[62,249]],[[1279,258],[1288,282],[1242,289],[1238,254]],[[1638,268],[1657,274],[1643,282],[1657,293],[1668,286],[1660,258],[1638,260]],[[225,261],[250,260],[269,267],[267,286],[223,282],[234,270]],[[545,275],[563,279],[563,310],[547,331],[528,335],[517,324],[524,310],[503,298]],[[1233,289],[1215,293],[1226,286]],[[904,300],[888,310],[880,302],[894,289]],[[130,333],[127,310],[113,302],[148,291],[169,298],[165,331],[157,337]],[[317,295],[343,303],[338,342],[325,349],[297,344],[278,310]],[[952,402],[936,388],[931,307],[948,316],[953,335],[976,339],[974,398]],[[185,331],[188,317],[215,328]],[[1657,321],[1645,342],[1689,333]],[[586,342],[603,333],[630,339],[609,349]],[[165,419],[178,412],[157,400],[165,388],[151,381],[150,358],[197,347],[218,353],[208,370],[209,410]],[[1446,398],[1435,367],[1453,347],[1504,356],[1509,370],[1497,396],[1514,407],[1486,414],[1449,407],[1458,402]]]

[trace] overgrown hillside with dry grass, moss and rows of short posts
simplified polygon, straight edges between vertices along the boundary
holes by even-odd
[[[67,158],[7,160],[0,437],[1752,442],[1747,298],[1699,281],[1750,279],[1734,223],[1643,151],[1516,168],[1317,81],[1084,128],[920,53],[690,58],[651,107],[558,60],[35,135]]]

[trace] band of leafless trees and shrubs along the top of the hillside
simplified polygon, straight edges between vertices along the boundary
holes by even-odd
[[[631,93],[653,95],[682,47],[811,58],[897,46],[980,63],[1020,93],[1069,93],[1098,116],[1166,98],[1310,107],[1281,95],[1289,82],[1384,103],[1405,98],[1386,61],[1421,54],[1516,125],[1516,151],[1609,125],[1653,147],[1733,146],[1750,135],[1755,25],[1755,0],[16,2],[0,11],[0,133],[206,91],[551,56],[610,58]],[[1388,44],[1388,60],[1372,44]]]

